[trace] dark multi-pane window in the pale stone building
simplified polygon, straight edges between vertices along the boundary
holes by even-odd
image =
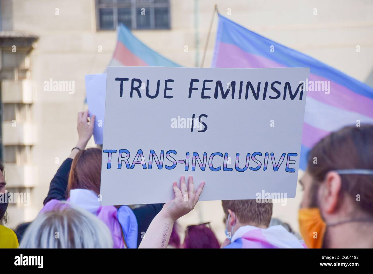
[[[97,29],[169,29],[169,0],[96,0]]]

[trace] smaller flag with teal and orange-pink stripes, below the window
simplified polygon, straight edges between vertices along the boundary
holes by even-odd
[[[117,28],[117,45],[108,67],[157,66],[180,67],[138,40],[128,28],[120,24]]]

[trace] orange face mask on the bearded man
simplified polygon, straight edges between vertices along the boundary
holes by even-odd
[[[322,248],[326,223],[319,208],[301,208],[299,210],[299,229],[308,248]]]

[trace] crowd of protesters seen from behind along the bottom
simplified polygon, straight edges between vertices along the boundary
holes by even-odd
[[[175,199],[166,204],[101,206],[102,151],[86,149],[94,119],[78,113],[78,143],[51,180],[43,209],[14,231],[4,226],[12,216],[0,164],[0,248],[373,248],[373,125],[344,127],[311,149],[299,181],[300,234],[272,218],[271,201],[229,200],[222,201],[220,243],[209,223],[185,231],[177,223],[205,185],[195,186],[192,176],[170,182]]]

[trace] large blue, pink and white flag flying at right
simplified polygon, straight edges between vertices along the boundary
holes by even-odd
[[[274,46],[274,52],[270,51]],[[310,56],[249,31],[219,15],[212,67],[309,67],[309,81],[330,81],[330,93],[307,92],[300,168],[307,152],[329,132],[373,123],[373,89]]]

